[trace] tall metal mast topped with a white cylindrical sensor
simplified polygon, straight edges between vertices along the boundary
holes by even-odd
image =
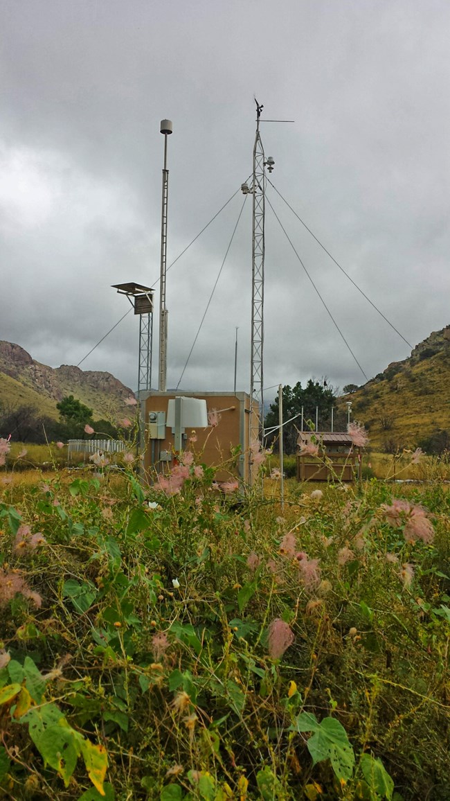
[[[161,133],[164,135],[163,197],[161,202],[161,272],[159,286],[159,382],[160,392],[167,389],[167,308],[166,308],[166,265],[167,265],[167,204],[169,199],[169,171],[167,170],[167,136],[172,133],[170,119],[161,120]]]

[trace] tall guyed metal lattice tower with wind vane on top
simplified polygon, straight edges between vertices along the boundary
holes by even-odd
[[[264,148],[259,134],[262,106],[256,103],[256,135],[253,148],[253,228],[251,246],[251,367],[250,396],[259,405],[259,414],[250,415],[250,441],[259,441],[263,421],[263,344],[264,344]]]

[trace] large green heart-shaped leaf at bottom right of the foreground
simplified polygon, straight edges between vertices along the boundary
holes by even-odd
[[[348,741],[347,732],[339,720],[323,718],[320,723],[314,714],[302,712],[297,718],[298,731],[313,731],[307,740],[307,750],[313,763],[331,760],[331,767],[338,779],[351,779],[355,766],[355,753]]]

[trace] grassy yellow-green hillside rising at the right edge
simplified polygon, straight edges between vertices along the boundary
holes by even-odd
[[[450,433],[449,388],[450,325],[342,400],[352,400],[352,419],[369,429],[374,449],[416,448],[438,429]]]

